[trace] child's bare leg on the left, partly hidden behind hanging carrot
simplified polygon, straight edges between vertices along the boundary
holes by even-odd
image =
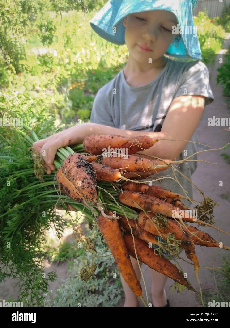
[[[138,278],[138,280],[140,281],[140,277],[141,277],[141,273],[138,267],[138,263],[136,258],[130,256],[131,262],[133,264],[134,270],[136,272],[136,276]],[[139,261],[140,266],[142,265],[142,262]],[[122,282],[122,286],[124,288],[124,292],[125,292],[125,304],[124,306],[138,306],[138,297],[134,294],[134,292],[132,292],[132,290],[129,288],[129,285],[125,282],[125,280],[123,279],[123,277],[120,275],[121,277],[121,282]]]

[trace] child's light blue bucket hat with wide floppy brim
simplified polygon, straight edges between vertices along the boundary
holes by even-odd
[[[125,44],[123,26],[125,16],[141,11],[169,10],[177,17],[181,30],[166,54],[177,58],[202,59],[193,22],[193,9],[197,2],[198,0],[110,0],[91,19],[90,26],[103,39],[123,45]],[[193,32],[187,33],[186,29],[191,31],[191,28]]]

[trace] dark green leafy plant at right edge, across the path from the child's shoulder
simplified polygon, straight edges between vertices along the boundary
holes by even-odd
[[[224,63],[217,69],[217,84],[221,82],[223,88],[223,95],[230,96],[230,47],[228,52],[224,55]]]

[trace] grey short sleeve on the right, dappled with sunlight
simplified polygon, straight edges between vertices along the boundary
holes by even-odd
[[[214,101],[214,96],[209,85],[208,68],[201,61],[191,62],[186,66],[174,98],[186,94],[204,96],[204,106]]]

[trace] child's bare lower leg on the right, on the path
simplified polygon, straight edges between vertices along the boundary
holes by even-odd
[[[152,301],[154,306],[165,306],[167,304],[167,296],[164,285],[167,276],[149,268],[152,277]]]

